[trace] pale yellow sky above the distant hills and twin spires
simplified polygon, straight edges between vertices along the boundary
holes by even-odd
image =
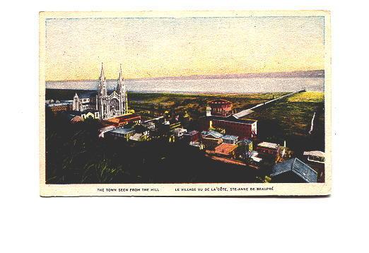
[[[54,18],[46,80],[324,69],[324,17]]]

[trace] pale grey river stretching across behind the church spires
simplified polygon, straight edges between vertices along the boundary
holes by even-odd
[[[228,79],[156,79],[126,80],[127,90],[139,93],[269,93],[301,88],[324,91],[324,78],[228,78]],[[46,88],[96,90],[95,81],[48,81]],[[108,90],[117,87],[116,80],[107,81]]]

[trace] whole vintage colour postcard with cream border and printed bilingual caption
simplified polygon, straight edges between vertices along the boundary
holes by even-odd
[[[331,193],[329,11],[40,12],[40,196]]]

